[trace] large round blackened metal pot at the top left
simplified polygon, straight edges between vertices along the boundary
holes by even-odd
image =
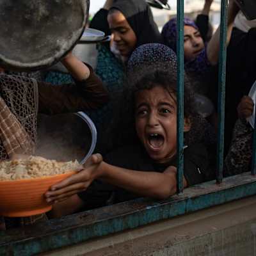
[[[39,70],[74,47],[90,0],[0,0],[0,67]]]

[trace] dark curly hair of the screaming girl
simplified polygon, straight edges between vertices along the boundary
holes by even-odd
[[[138,72],[142,76],[132,73],[127,77],[124,90],[121,95],[118,95],[116,100],[113,122],[108,127],[107,140],[105,141],[106,148],[103,153],[109,152],[116,147],[131,145],[138,143],[138,137],[135,130],[134,106],[135,93],[140,90],[151,90],[155,86],[162,86],[173,97],[173,93],[177,93],[177,76],[173,76],[173,72],[156,70],[140,70]],[[184,116],[191,118],[194,115],[193,111],[193,92],[189,81],[185,75],[184,81]],[[172,93],[172,94],[171,94]],[[173,98],[176,100],[176,97]]]

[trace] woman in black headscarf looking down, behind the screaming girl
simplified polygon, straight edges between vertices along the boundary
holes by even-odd
[[[159,43],[161,34],[145,0],[107,0],[104,8],[93,17],[90,28],[111,34],[111,42],[98,44],[96,74],[106,84],[113,100],[124,86],[126,63],[134,49],[147,43]],[[102,132],[113,114],[113,100],[99,111],[86,112]],[[98,145],[99,145],[98,143]],[[99,145],[100,148],[100,145]]]

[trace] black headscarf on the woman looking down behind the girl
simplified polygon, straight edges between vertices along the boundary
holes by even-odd
[[[117,9],[123,13],[137,37],[136,47],[162,42],[150,6],[145,0],[116,0],[110,10],[112,9]]]

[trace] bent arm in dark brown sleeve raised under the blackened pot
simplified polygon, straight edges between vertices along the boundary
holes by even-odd
[[[109,95],[92,67],[84,64],[72,53],[67,54],[63,65],[76,80],[76,84],[38,83],[38,111],[47,115],[97,109],[108,102]]]

